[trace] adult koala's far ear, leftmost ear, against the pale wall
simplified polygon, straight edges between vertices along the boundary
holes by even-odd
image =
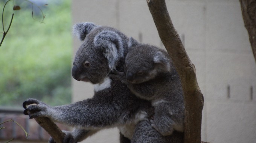
[[[76,35],[81,41],[85,39],[88,33],[96,27],[91,22],[77,23],[73,26],[73,33]]]

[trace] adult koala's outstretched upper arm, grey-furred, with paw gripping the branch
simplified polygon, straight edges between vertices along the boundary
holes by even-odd
[[[44,116],[55,122],[89,130],[110,127],[120,120],[120,115],[125,114],[124,111],[116,109],[116,104],[110,103],[107,98],[91,98],[55,107],[29,98],[24,101],[23,107],[24,114],[29,115],[30,119]]]

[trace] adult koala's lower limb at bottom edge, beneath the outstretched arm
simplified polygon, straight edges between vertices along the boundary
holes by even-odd
[[[95,134],[98,130],[85,130],[75,129],[74,131],[63,131],[66,135],[63,139],[63,143],[77,143],[85,140],[87,137]],[[49,139],[49,143],[55,143],[52,137]]]

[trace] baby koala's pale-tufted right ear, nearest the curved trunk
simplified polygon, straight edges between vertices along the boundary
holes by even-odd
[[[171,60],[168,57],[168,54],[158,51],[154,55],[154,63],[159,72],[170,72],[171,71]]]

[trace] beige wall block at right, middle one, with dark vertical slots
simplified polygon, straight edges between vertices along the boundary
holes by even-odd
[[[206,55],[206,95],[208,100],[250,100],[250,87],[256,88],[256,67],[252,53],[211,52]]]

